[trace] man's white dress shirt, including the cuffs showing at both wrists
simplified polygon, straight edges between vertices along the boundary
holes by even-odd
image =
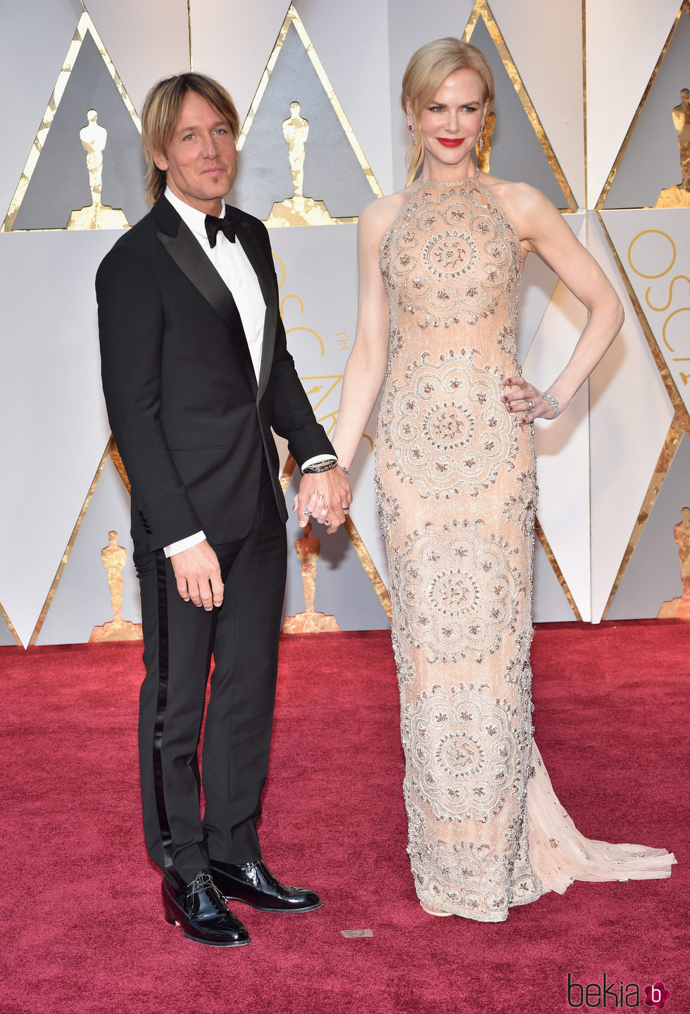
[[[202,249],[232,292],[235,305],[237,306],[237,312],[240,315],[242,327],[244,328],[247,345],[249,346],[249,355],[251,356],[254,373],[256,374],[256,379],[258,380],[258,374],[261,368],[261,352],[263,350],[263,320],[265,317],[265,302],[263,301],[263,296],[261,295],[261,288],[258,284],[256,273],[251,267],[246,254],[242,249],[239,237],[237,237],[236,241],[233,243],[230,242],[228,237],[223,232],[219,231],[218,236],[216,237],[216,245],[212,247],[206,232],[206,213],[199,211],[197,208],[193,208],[189,204],[186,204],[173,194],[169,187],[165,189],[165,197],[175,209],[184,224],[191,230]],[[220,217],[222,218],[224,215],[225,202],[221,201]],[[304,468],[306,465],[312,464],[316,461],[326,460],[333,460],[332,455],[319,454],[316,457],[310,457],[308,461],[304,462],[302,467]],[[197,546],[199,542],[204,541],[206,535],[203,531],[197,531],[194,535],[187,535],[185,538],[177,539],[177,541],[163,547],[165,556],[171,557],[175,553],[181,553],[183,550],[188,550],[193,546]]]

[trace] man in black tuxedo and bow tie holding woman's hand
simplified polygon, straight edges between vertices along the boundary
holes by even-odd
[[[142,114],[151,212],[96,278],[102,380],[132,484],[146,677],[144,829],[165,918],[191,940],[249,942],[228,911],[304,912],[314,891],[261,860],[287,512],[272,427],[301,463],[300,524],[341,524],[350,485],[286,346],[269,236],[224,205],[238,118],[216,81],[160,81]],[[309,470],[311,469],[311,470]],[[211,655],[202,758],[197,749]]]

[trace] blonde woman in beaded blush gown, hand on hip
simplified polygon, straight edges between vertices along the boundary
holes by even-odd
[[[383,384],[376,487],[401,695],[409,847],[423,909],[500,922],[573,879],[669,876],[663,849],[590,842],[532,740],[531,423],[555,419],[618,333],[620,302],[559,212],[479,173],[493,101],[473,46],[412,57],[413,144],[399,194],[362,213],[360,306],[333,445],[348,467]],[[523,263],[537,254],[590,311],[547,391],[520,375]],[[321,519],[327,506],[311,505]]]

